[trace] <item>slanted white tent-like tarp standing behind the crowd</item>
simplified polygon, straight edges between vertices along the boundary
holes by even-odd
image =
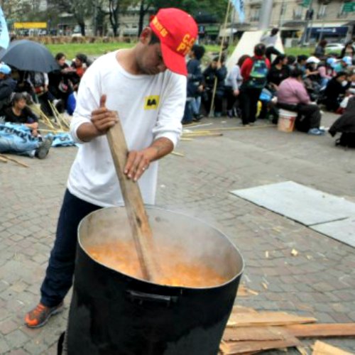
[[[236,45],[234,52],[226,61],[226,67],[228,71],[231,70],[234,64],[238,62],[239,58],[244,55],[253,55],[253,50],[255,45],[260,43],[261,36],[265,33],[265,31],[246,31],[241,36],[239,43]],[[270,33],[270,31],[268,31]],[[280,38],[280,33],[278,33],[278,40],[276,42],[275,48],[279,50],[281,53],[284,53],[283,43]]]

